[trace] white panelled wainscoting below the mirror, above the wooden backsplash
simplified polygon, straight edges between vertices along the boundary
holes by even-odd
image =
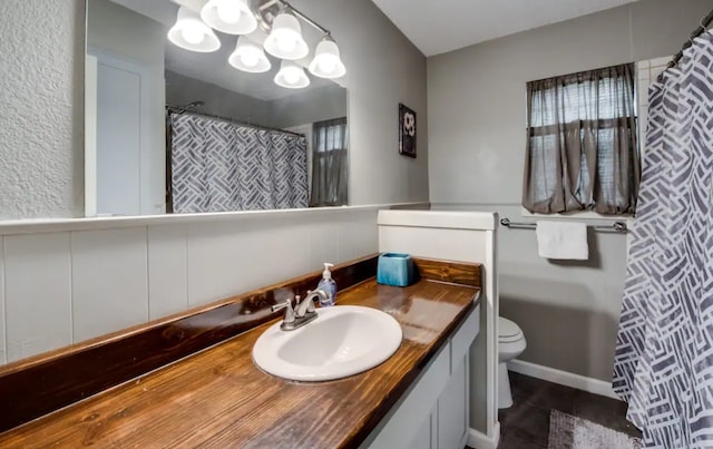
[[[375,253],[380,207],[0,230],[0,363]]]

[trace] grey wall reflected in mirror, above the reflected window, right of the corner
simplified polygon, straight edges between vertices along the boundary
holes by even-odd
[[[334,84],[291,95],[270,104],[272,126],[289,128],[346,116],[346,89]]]

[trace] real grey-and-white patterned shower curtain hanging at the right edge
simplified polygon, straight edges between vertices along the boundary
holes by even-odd
[[[713,33],[649,88],[614,389],[649,448],[713,447]]]

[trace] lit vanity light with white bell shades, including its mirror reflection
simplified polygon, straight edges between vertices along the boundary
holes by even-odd
[[[284,0],[173,1],[179,3],[180,8],[176,25],[168,32],[168,39],[180,48],[198,52],[216,51],[221,41],[213,29],[227,35],[238,35],[235,51],[228,58],[232,67],[253,74],[267,71],[272,67],[265,56],[267,51],[282,59],[281,70],[274,81],[290,89],[302,88],[310,85],[304,68],[295,62],[310,53],[310,48],[302,37],[302,20],[324,35],[306,67],[310,74],[328,79],[340,78],[346,74],[339,47],[330,30]],[[253,32],[258,25],[268,32],[262,46],[245,36]]]

